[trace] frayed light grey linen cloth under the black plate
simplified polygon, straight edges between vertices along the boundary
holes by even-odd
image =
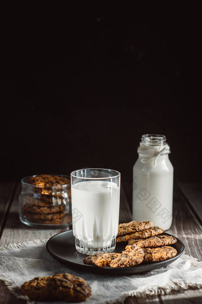
[[[77,271],[56,261],[45,249],[47,240],[34,240],[22,244],[0,247],[0,279],[19,299],[28,304],[35,302],[23,296],[21,285],[35,277],[70,273],[84,278],[91,286],[92,295],[86,304],[123,303],[130,295],[169,294],[173,290],[186,290],[190,286],[202,287],[202,262],[182,254],[176,261],[149,272],[135,275],[98,275]],[[51,302],[65,303],[65,302]]]

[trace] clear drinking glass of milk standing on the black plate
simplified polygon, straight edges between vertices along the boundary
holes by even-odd
[[[110,169],[71,173],[72,225],[78,252],[113,252],[118,233],[120,178]]]

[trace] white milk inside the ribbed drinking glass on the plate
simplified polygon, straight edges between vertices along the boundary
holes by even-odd
[[[83,247],[102,248],[118,233],[120,187],[110,181],[71,185],[73,234]]]

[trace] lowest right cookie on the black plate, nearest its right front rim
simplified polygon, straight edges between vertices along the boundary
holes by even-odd
[[[130,245],[133,246],[133,245]],[[177,250],[170,246],[144,248],[144,262],[155,263],[175,257]]]

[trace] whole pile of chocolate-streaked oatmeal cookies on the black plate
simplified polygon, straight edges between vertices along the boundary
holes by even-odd
[[[119,224],[117,242],[127,242],[122,253],[98,253],[84,259],[84,264],[98,267],[130,267],[141,263],[154,263],[175,257],[177,250],[171,245],[175,237],[159,235],[163,229],[151,221],[132,221]]]

